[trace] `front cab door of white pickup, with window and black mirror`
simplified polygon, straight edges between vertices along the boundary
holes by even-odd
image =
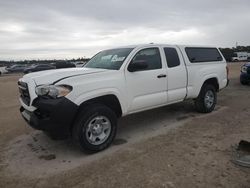
[[[167,72],[158,47],[137,51],[125,70],[125,77],[128,113],[167,103]]]

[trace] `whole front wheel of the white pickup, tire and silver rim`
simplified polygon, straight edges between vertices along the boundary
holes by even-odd
[[[104,105],[94,104],[79,113],[72,136],[84,151],[98,152],[110,146],[116,129],[116,114]]]

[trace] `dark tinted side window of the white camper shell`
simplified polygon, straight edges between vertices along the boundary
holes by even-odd
[[[223,60],[217,48],[187,47],[185,51],[191,63]]]

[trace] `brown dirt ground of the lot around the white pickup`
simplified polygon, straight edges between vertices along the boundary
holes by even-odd
[[[250,86],[242,63],[210,114],[190,101],[119,120],[107,150],[87,155],[54,141],[19,114],[17,80],[0,77],[0,187],[250,187],[250,169],[231,162],[232,146],[250,141]]]

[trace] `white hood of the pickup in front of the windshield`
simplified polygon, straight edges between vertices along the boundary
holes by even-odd
[[[36,85],[53,84],[66,78],[95,74],[99,72],[105,72],[106,69],[90,69],[90,68],[66,68],[66,69],[53,69],[46,71],[39,71],[23,76],[23,79],[32,79]]]

